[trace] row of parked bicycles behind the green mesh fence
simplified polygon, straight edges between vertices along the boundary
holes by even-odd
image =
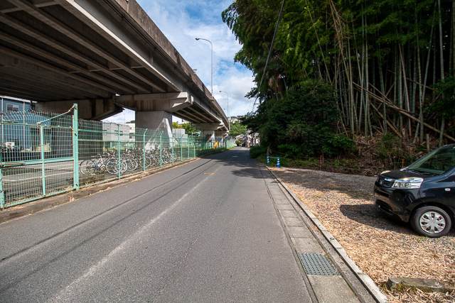
[[[161,150],[132,148],[122,151],[119,156],[118,151],[107,150],[103,153],[97,153],[89,160],[80,162],[79,170],[82,175],[106,172],[111,175],[118,175],[119,172],[123,174],[134,170],[144,170],[149,167],[180,161],[180,155],[172,151],[172,148],[162,148]]]

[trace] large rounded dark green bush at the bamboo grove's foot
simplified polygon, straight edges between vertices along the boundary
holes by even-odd
[[[262,103],[255,114],[242,117],[242,121],[259,132],[261,145],[272,152],[332,157],[354,148],[352,140],[336,134],[341,117],[337,99],[330,84],[307,81],[297,89],[289,89],[281,100]]]

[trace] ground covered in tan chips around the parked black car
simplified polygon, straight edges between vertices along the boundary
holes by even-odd
[[[422,277],[455,285],[455,228],[441,238],[418,236],[375,207],[375,177],[272,167],[336,237],[390,302],[455,302],[455,293],[390,292],[388,277]]]

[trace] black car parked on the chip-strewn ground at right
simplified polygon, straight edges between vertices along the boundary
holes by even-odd
[[[381,172],[376,205],[410,222],[417,233],[437,238],[449,233],[455,215],[455,144],[444,145],[402,170]]]

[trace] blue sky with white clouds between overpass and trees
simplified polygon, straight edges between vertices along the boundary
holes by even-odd
[[[230,116],[240,116],[252,110],[252,100],[245,94],[253,87],[252,72],[239,63],[234,56],[240,45],[228,26],[221,19],[221,12],[232,0],[137,0],[142,9],[166,35],[191,68],[210,89],[211,48],[213,43],[213,96]],[[108,121],[123,123],[134,120],[134,112],[125,110]],[[178,120],[178,119],[175,119]]]

